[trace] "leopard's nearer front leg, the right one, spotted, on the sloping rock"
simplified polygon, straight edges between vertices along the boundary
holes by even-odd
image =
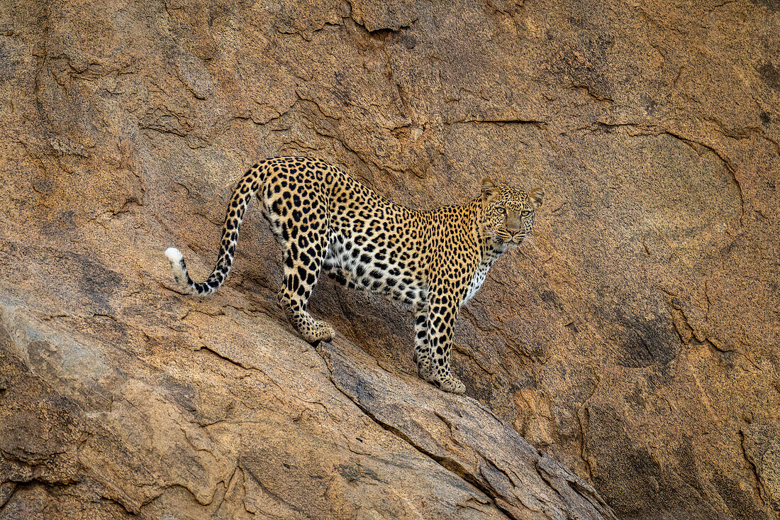
[[[428,293],[427,349],[431,354],[431,371],[430,379],[425,379],[445,392],[463,394],[466,385],[452,375],[449,367],[459,302],[452,294],[444,293],[441,296],[434,290]]]

